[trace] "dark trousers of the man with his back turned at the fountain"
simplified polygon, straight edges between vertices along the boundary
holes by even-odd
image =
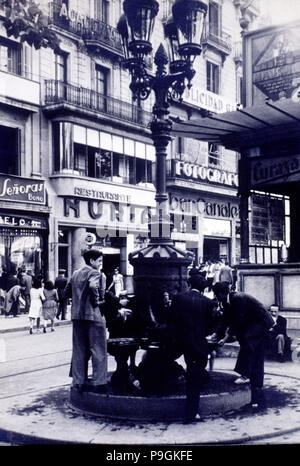
[[[205,367],[208,356],[207,354],[186,352],[184,359],[186,362],[185,418],[192,420],[198,413],[201,387],[207,378]]]

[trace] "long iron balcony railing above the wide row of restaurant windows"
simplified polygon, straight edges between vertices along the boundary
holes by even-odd
[[[148,127],[152,114],[141,108],[111,96],[84,87],[74,86],[54,79],[46,80],[45,108],[69,104],[74,108],[102,113],[119,120],[126,120]],[[55,110],[54,109],[54,110]],[[80,111],[80,110],[79,110]]]

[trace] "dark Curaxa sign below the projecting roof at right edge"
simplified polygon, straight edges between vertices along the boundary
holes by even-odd
[[[286,157],[249,160],[251,186],[282,183],[287,177],[300,173],[300,154]]]

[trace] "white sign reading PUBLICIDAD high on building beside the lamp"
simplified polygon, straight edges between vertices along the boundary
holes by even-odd
[[[218,94],[195,86],[185,90],[183,100],[214,113],[232,112],[236,110],[237,105],[235,102],[231,102]]]

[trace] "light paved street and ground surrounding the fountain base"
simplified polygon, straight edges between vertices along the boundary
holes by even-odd
[[[21,327],[21,322],[18,325]],[[27,330],[2,333],[0,339],[6,350],[6,361],[0,365],[0,441],[4,443],[300,443],[299,364],[266,363],[270,407],[264,414],[240,410],[208,416],[204,422],[188,426],[109,421],[74,412],[68,404],[71,325],[56,326],[55,332],[46,335],[30,336]],[[109,370],[114,367],[109,356]],[[216,359],[215,370],[231,372],[233,367],[234,358]]]

